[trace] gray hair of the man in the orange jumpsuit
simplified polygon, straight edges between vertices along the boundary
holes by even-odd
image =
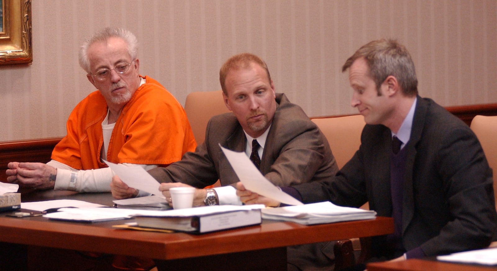
[[[79,58],[80,66],[83,70],[87,73],[91,73],[90,62],[88,59],[88,48],[95,42],[107,42],[109,38],[112,37],[121,38],[124,42],[126,42],[128,44],[128,53],[131,56],[131,60],[136,59],[138,55],[138,40],[136,39],[136,36],[126,29],[107,27],[93,34],[91,38],[85,40],[81,45]]]

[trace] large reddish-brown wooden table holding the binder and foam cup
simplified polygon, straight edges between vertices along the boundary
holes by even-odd
[[[110,193],[29,190],[21,194],[22,202],[55,199],[113,205]],[[112,228],[132,219],[79,223],[6,214],[0,213],[0,242],[7,247],[20,244],[46,250],[147,257],[170,270],[286,270],[286,246],[383,235],[394,230],[392,218],[377,217],[312,226],[267,220],[261,225],[193,235]]]

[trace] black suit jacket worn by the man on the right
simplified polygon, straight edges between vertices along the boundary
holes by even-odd
[[[430,99],[417,97],[404,179],[402,242],[427,256],[486,247],[496,234],[492,169],[470,128]],[[295,186],[304,202],[331,200],[359,207],[369,201],[379,216],[392,215],[391,131],[366,125],[361,146],[336,177]],[[383,238],[379,255],[393,258]]]

